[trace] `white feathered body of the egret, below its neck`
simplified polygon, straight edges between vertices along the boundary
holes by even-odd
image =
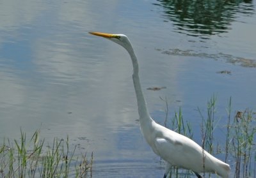
[[[180,168],[193,170],[193,172],[211,172],[228,177],[229,166],[209,152],[205,151],[193,140],[184,135],[169,130],[152,120],[149,130],[141,131],[152,150],[160,156],[166,163],[165,175],[170,171],[170,167],[175,165]]]

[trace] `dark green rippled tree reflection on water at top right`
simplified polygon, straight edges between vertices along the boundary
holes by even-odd
[[[252,15],[254,7],[252,0],[238,1],[207,1],[207,0],[157,0],[154,3],[163,6],[165,19],[171,20],[177,33],[191,36],[201,36],[227,33],[239,13]],[[205,36],[206,35],[206,36]]]

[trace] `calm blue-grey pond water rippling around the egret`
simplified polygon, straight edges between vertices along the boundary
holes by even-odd
[[[93,151],[93,177],[163,177],[140,133],[127,52],[89,31],[129,36],[148,110],[182,108],[200,144],[201,117],[256,109],[256,1],[1,1],[0,138],[20,128]],[[159,91],[149,87],[164,87]],[[206,114],[206,113],[205,113]],[[225,133],[225,128],[219,128]],[[225,138],[217,137],[218,141]],[[234,169],[232,165],[232,169]]]

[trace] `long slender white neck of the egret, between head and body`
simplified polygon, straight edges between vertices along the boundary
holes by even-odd
[[[147,103],[143,96],[143,92],[140,85],[138,60],[132,48],[127,49],[127,51],[129,52],[132,59],[132,66],[133,66],[132,80],[133,80],[137,103],[138,103],[138,112],[140,115],[140,122],[148,122],[148,121],[151,121],[151,118],[148,113]]]

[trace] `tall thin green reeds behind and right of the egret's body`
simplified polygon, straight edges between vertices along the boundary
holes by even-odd
[[[168,107],[167,99],[163,100]],[[232,113],[231,97],[228,100],[227,117],[216,117],[216,96],[207,102],[207,112],[204,114],[200,108],[198,113],[202,118],[201,124],[201,137],[202,148],[216,156],[221,155],[225,162],[228,162],[231,167],[232,173],[230,177],[256,177],[256,117],[252,110],[235,111]],[[169,111],[165,109],[165,111]],[[166,114],[167,117],[168,114]],[[234,119],[232,119],[232,117]],[[226,124],[219,125],[220,119],[223,119],[221,123],[226,121]],[[225,119],[225,121],[224,121]],[[174,117],[170,118],[171,124],[166,127],[192,138],[193,131],[189,122],[184,123],[182,110],[179,108],[179,112],[175,112]],[[165,121],[167,123],[167,121]],[[219,144],[220,140],[214,140],[214,131],[216,128],[223,128],[223,125],[227,128],[224,145]],[[198,143],[200,144],[200,143]],[[191,172],[182,170],[180,168],[173,168],[170,177],[189,177]],[[211,174],[203,173],[203,177],[211,177]]]

